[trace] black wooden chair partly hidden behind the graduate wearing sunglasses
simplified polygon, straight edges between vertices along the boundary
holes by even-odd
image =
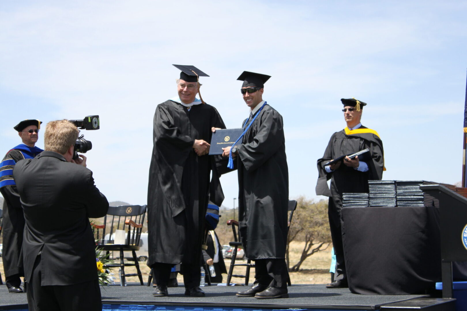
[[[290,223],[292,222],[292,217],[293,217],[293,213],[295,212],[295,209],[297,208],[297,201],[296,200],[289,200],[289,219],[287,221],[287,233],[289,233],[289,228],[290,228]],[[233,250],[232,250],[232,259],[230,261],[230,268],[229,268],[229,272],[227,274],[227,281],[226,281],[226,284],[227,286],[230,286],[230,280],[232,279],[232,276],[235,276],[235,277],[240,277],[240,278],[244,278],[245,279],[245,286],[248,286],[248,280],[249,280],[249,277],[250,277],[250,269],[255,267],[255,264],[254,263],[251,263],[251,260],[250,259],[247,259],[247,263],[235,263],[235,259],[237,258],[237,249],[239,246],[241,246],[241,238],[240,238],[240,231],[238,231],[238,235],[237,235],[237,230],[238,230],[238,221],[235,221],[233,219],[227,221],[227,225],[228,226],[232,226],[232,233],[233,233],[233,242],[229,242],[229,245],[230,246],[233,246]],[[245,275],[236,275],[236,274],[233,274],[233,268],[234,267],[247,267],[247,270],[245,272]],[[288,275],[289,274],[289,271],[287,271],[287,284],[290,286],[291,283],[290,283],[290,276]]]

